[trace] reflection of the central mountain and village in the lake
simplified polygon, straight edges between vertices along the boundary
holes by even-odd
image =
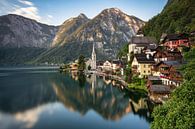
[[[113,87],[112,84],[117,85],[115,80],[105,77],[101,79],[94,74],[84,79],[87,81],[85,84],[82,83],[85,87],[83,85],[79,87],[76,84],[77,82],[66,83],[71,78],[77,80],[79,77],[75,78],[76,74],[71,77],[66,76],[67,80],[61,81],[64,83],[53,81],[52,85],[60,101],[71,111],[77,111],[84,115],[87,111],[93,109],[108,120],[119,120],[124,115],[132,112],[150,121],[145,93],[121,92],[119,87]],[[78,83],[80,84],[80,79],[78,79]]]

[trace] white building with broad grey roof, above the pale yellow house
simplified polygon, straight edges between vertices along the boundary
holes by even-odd
[[[129,52],[127,56],[128,56],[128,61],[130,61],[132,54],[142,53],[142,50],[145,48],[147,49],[156,48],[156,42],[153,38],[150,37],[135,36],[132,37],[128,47],[129,47]]]

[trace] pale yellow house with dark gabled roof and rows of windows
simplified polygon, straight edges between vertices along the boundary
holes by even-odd
[[[151,75],[152,65],[155,63],[154,58],[149,54],[135,54],[132,62],[132,72],[138,74],[140,78]]]

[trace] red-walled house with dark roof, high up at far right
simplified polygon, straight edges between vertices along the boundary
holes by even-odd
[[[179,48],[181,46],[190,47],[189,38],[186,34],[168,34],[163,36],[162,44],[169,49]]]

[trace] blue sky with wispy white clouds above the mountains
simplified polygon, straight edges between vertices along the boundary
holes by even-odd
[[[144,21],[160,13],[167,0],[0,0],[0,15],[18,14],[49,25],[84,13],[88,18],[107,8],[119,8]]]

